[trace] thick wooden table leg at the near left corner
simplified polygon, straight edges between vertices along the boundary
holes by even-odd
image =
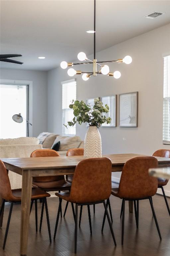
[[[31,170],[24,170],[22,173],[22,198],[21,198],[21,230],[20,230],[20,254],[27,254],[30,203],[32,193]]]

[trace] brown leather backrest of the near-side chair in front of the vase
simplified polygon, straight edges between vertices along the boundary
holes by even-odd
[[[70,201],[93,203],[111,195],[112,162],[109,158],[89,158],[80,161],[75,169]]]

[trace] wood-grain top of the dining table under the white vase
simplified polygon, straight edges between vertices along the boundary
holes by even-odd
[[[140,154],[110,154],[103,155],[112,161],[112,165],[124,165],[130,158],[137,156],[146,156]],[[169,158],[156,157],[158,163],[170,163]],[[61,157],[27,157],[27,158],[2,158],[6,168],[10,170],[10,166],[20,170],[38,170],[38,169],[57,169],[75,167],[83,156],[61,156]]]

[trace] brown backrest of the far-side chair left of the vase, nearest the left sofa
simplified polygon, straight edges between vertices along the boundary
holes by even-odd
[[[60,156],[57,151],[53,149],[37,149],[31,153],[31,157],[50,157],[50,156]],[[64,180],[64,175],[55,176],[43,176],[43,177],[33,177],[35,182],[49,182],[56,180]]]

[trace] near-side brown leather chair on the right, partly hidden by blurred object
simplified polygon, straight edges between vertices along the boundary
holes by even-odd
[[[124,222],[125,222],[125,201],[133,201],[135,209],[136,227],[139,221],[139,200],[149,199],[153,217],[156,223],[158,234],[161,238],[158,222],[152,203],[152,196],[156,194],[157,178],[148,174],[149,168],[158,167],[158,161],[153,156],[134,157],[128,160],[122,170],[119,188],[112,189],[112,195],[123,199],[122,209],[122,244],[124,242]],[[136,210],[137,200],[137,210]],[[106,213],[104,214],[102,231],[105,224]]]

